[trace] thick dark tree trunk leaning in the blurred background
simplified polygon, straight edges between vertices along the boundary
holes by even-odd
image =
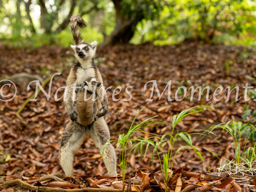
[[[134,35],[134,31],[138,22],[143,18],[143,14],[122,14],[120,0],[113,0],[116,8],[116,26],[110,36],[107,36],[102,46],[114,45],[118,43],[129,43],[130,39]]]

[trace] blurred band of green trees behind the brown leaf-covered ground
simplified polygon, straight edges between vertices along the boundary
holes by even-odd
[[[69,18],[80,14],[84,40],[155,45],[197,40],[255,46],[251,0],[0,0],[0,42],[69,46]]]

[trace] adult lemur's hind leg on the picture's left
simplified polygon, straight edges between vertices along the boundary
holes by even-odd
[[[73,175],[74,153],[78,151],[86,136],[86,126],[68,122],[60,141],[60,166],[67,176]]]

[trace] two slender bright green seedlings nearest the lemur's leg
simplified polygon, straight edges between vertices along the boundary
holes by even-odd
[[[120,134],[118,137],[118,140],[111,140],[109,142],[107,142],[102,150],[102,155],[104,154],[104,150],[106,148],[106,146],[113,141],[116,141],[116,148],[118,148],[120,146],[121,150],[120,150],[120,156],[119,156],[119,166],[121,168],[121,172],[122,172],[122,178],[123,178],[123,184],[124,184],[124,178],[125,178],[125,172],[126,172],[126,166],[128,163],[128,158],[130,153],[132,152],[132,150],[136,149],[140,149],[140,156],[141,156],[141,160],[143,158],[143,146],[144,144],[146,144],[146,150],[144,152],[144,155],[147,154],[148,152],[148,147],[150,145],[154,146],[154,150],[152,152],[152,165],[153,165],[153,157],[154,154],[158,155],[159,161],[160,161],[160,165],[161,165],[161,169],[162,169],[162,164],[161,164],[161,159],[160,156],[158,154],[158,151],[161,150],[162,144],[163,142],[169,142],[169,150],[168,150],[168,154],[164,154],[164,158],[163,158],[163,169],[162,172],[165,173],[165,178],[164,178],[164,182],[166,184],[166,182],[169,180],[170,178],[170,174],[172,174],[172,166],[173,166],[173,162],[175,159],[176,154],[187,147],[192,148],[196,154],[199,156],[199,158],[204,162],[202,155],[200,154],[200,152],[198,152],[198,150],[196,150],[195,146],[192,146],[192,138],[191,135],[192,134],[199,134],[196,132],[180,132],[175,134],[175,136],[173,136],[173,131],[175,126],[178,124],[178,122],[180,122],[182,120],[182,118],[190,115],[190,114],[194,114],[194,113],[198,113],[198,112],[202,112],[205,109],[210,109],[212,110],[211,106],[196,106],[187,110],[183,110],[182,112],[180,112],[180,114],[178,115],[174,115],[173,120],[172,120],[172,134],[165,134],[163,136],[160,135],[156,135],[153,137],[149,137],[147,139],[142,138],[138,135],[135,134],[136,138],[130,138],[134,133],[136,132],[142,132],[145,133],[142,128],[147,127],[147,124],[164,124],[164,122],[161,122],[159,120],[154,120],[153,118],[155,118],[156,116],[149,118],[147,120],[142,121],[141,123],[134,125],[134,121],[136,119],[136,117],[138,116],[138,114],[141,112],[138,112],[138,114],[136,115],[136,117],[134,118],[132,125],[130,126],[130,129],[128,130],[127,134]],[[143,109],[142,109],[143,110]],[[196,130],[196,131],[205,131],[205,130]],[[206,132],[210,132],[210,131],[206,131]],[[202,134],[200,134],[202,135]],[[207,135],[206,135],[207,136]],[[166,140],[166,137],[170,137],[170,139]],[[173,152],[173,146],[174,146],[174,142],[176,142],[178,139],[182,138],[184,141],[186,141],[186,143],[188,144],[188,146],[182,146],[180,147],[174,155],[173,161],[172,161],[172,166],[170,167],[170,163],[171,163],[171,157],[172,157],[172,152]],[[198,147],[198,146],[197,146]],[[201,147],[203,148],[203,147]],[[206,148],[204,148],[205,150],[208,150]],[[208,150],[209,151],[209,150]],[[128,154],[128,156],[126,157],[126,152]],[[211,152],[211,151],[210,151]],[[212,154],[214,154],[213,152],[211,152]],[[216,156],[216,154],[214,154]]]

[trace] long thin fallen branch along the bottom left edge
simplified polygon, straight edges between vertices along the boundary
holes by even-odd
[[[122,192],[122,189],[106,189],[106,188],[82,188],[82,189],[60,189],[60,188],[51,188],[51,187],[38,187],[32,186],[28,183],[23,182],[20,179],[6,181],[0,185],[2,188],[8,188],[9,186],[18,185],[22,188],[40,191],[40,192]]]

